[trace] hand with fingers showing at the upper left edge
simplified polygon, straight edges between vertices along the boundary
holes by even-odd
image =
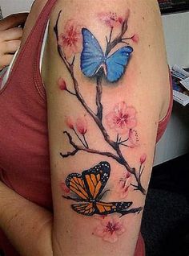
[[[22,39],[27,13],[11,14],[0,21],[0,70],[8,66]]]

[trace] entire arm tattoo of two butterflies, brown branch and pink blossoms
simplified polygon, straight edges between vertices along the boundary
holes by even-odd
[[[107,83],[108,85],[117,85],[116,82],[122,79],[135,52],[130,43],[139,42],[139,36],[136,34],[126,36],[130,11],[127,11],[125,18],[111,12],[98,14],[99,21],[110,28],[110,34],[105,36],[107,47],[104,52],[94,34],[88,28],[80,26],[72,19],[68,20],[62,34],[59,34],[58,23],[61,14],[62,10],[58,14],[58,19],[54,26],[54,34],[57,39],[58,55],[70,74],[73,87],[70,89],[70,86],[66,85],[66,81],[62,77],[58,78],[57,84],[60,90],[69,93],[71,97],[78,100],[78,103],[82,105],[86,114],[83,117],[79,116],[76,120],[70,116],[66,117],[66,126],[70,131],[64,130],[63,134],[67,136],[70,145],[73,147],[73,151],[61,152],[60,155],[62,158],[67,158],[76,155],[78,151],[84,151],[114,159],[125,169],[118,183],[115,184],[115,192],[118,192],[119,198],[123,199],[127,197],[131,188],[145,195],[146,190],[141,183],[141,177],[147,156],[141,156],[139,168],[137,168],[131,167],[131,164],[128,163],[126,157],[123,155],[123,147],[126,147],[128,150],[133,147],[139,147],[139,137],[136,130],[136,109],[132,105],[127,105],[125,101],[121,101],[115,105],[109,114],[104,116],[102,103],[103,86],[107,85]],[[118,30],[119,32],[115,35],[115,32]],[[79,52],[81,52],[80,68],[82,74],[87,79],[92,78],[95,81],[95,110],[91,109],[90,105],[86,103],[85,98],[80,92],[79,82],[74,74],[75,59]],[[107,83],[103,83],[104,80]],[[87,141],[87,134],[90,133],[88,129],[88,117],[90,117],[90,122],[92,118],[92,121],[103,135],[104,141],[107,142],[107,145],[113,151],[101,151],[100,149],[91,147]],[[111,138],[108,130],[114,130],[115,138]],[[107,233],[102,231],[102,227],[99,226],[95,230],[94,235],[103,237],[103,240],[108,241],[107,237],[110,238],[108,234],[111,233],[114,236],[111,236],[111,241],[109,242],[115,242],[118,239],[118,235],[124,232],[123,222],[119,219],[115,220],[115,217],[111,218],[109,215],[119,213],[119,217],[122,217],[128,213],[140,213],[143,207],[132,209],[131,205],[133,202],[131,201],[103,201],[103,197],[110,190],[105,190],[110,175],[110,163],[101,162],[86,171],[82,171],[82,174],[71,173],[68,175],[65,183],[62,183],[62,191],[64,192],[63,198],[76,202],[76,204],[71,204],[71,208],[76,213],[86,216],[96,214],[100,216],[101,221],[106,220]],[[119,232],[116,230],[119,230]]]

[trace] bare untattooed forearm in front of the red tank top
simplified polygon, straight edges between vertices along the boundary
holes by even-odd
[[[0,228],[22,256],[52,256],[52,214],[0,182]]]

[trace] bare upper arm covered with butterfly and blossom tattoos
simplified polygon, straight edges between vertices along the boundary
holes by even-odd
[[[55,250],[133,255],[168,84],[156,4],[58,1],[44,63]]]

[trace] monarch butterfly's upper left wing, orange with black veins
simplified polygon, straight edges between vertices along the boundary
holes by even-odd
[[[70,191],[74,192],[80,199],[89,200],[86,186],[82,180],[82,175],[79,173],[71,173],[66,178],[66,186]]]

